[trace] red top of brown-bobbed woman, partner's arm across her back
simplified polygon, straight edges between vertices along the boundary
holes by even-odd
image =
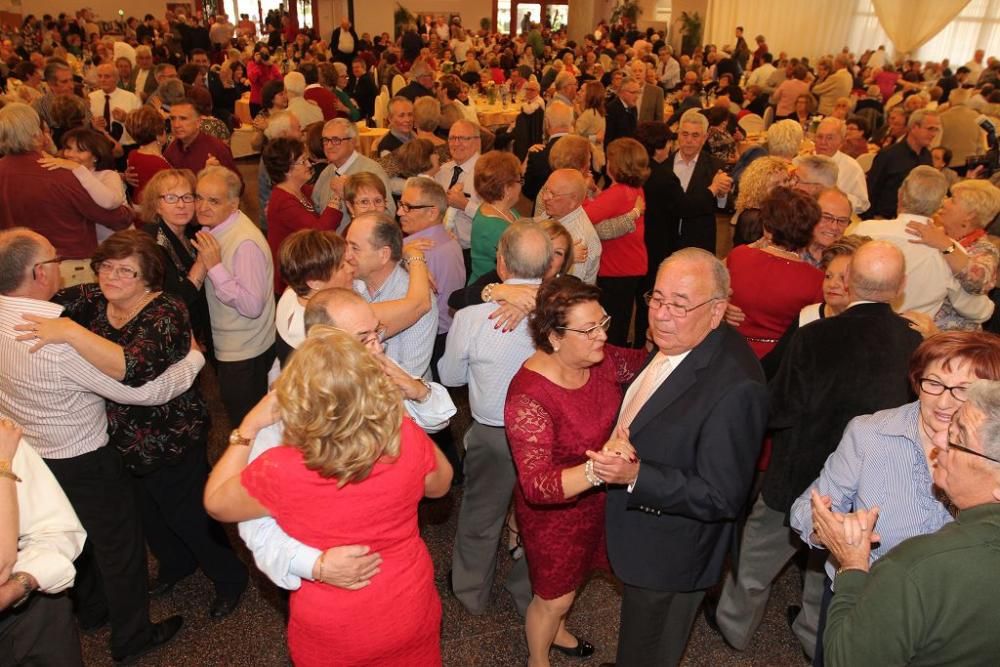
[[[628,213],[635,207],[635,200],[642,196],[642,188],[616,183],[584,202],[583,210],[598,227],[608,218]],[[600,278],[628,278],[646,275],[646,242],[643,231],[645,216],[635,221],[635,231],[609,241],[601,241]]]

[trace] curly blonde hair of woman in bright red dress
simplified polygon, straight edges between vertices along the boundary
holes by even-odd
[[[361,482],[380,458],[399,455],[402,397],[354,336],[313,326],[275,388],[287,441],[337,486]]]

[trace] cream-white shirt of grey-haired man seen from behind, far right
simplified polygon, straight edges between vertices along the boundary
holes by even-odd
[[[948,299],[962,317],[973,322],[988,320],[993,314],[989,297],[963,290],[939,250],[913,243],[914,236],[906,231],[909,222],[929,224],[931,219],[903,213],[895,220],[865,220],[853,232],[888,241],[902,251],[906,259],[906,292],[901,304],[893,303],[893,309],[899,313],[918,310],[934,317]],[[955,252],[965,251],[956,244]]]

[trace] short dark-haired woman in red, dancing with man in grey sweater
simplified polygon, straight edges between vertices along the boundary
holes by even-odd
[[[282,241],[300,229],[336,231],[344,214],[338,197],[330,197],[323,210],[317,211],[309,196],[312,193],[303,192],[303,186],[312,180],[313,162],[298,139],[268,142],[263,161],[271,182],[277,184],[267,202],[267,243],[274,259],[274,292],[281,294],[285,289],[278,264]]]

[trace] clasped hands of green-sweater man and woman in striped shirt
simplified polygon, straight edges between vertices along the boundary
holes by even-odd
[[[875,532],[878,507],[840,513],[831,510],[830,498],[811,491],[813,532],[840,563],[841,569],[868,571],[872,544],[882,538]]]

